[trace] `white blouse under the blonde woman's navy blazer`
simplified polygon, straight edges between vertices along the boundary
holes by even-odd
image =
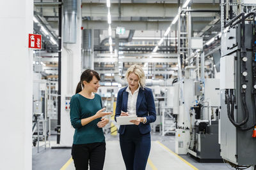
[[[126,89],[126,92],[129,93],[128,95],[128,101],[127,101],[127,112],[129,115],[136,115],[136,103],[137,103],[137,98],[139,94],[140,87],[138,87],[137,90],[134,91],[132,94],[129,86]]]

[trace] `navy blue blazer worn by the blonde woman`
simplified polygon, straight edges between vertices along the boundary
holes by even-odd
[[[121,115],[121,110],[127,112],[127,101],[128,101],[128,92],[126,92],[127,87],[120,89],[117,94],[116,99],[116,117]],[[152,90],[145,87],[144,89],[139,90],[137,103],[136,103],[136,113],[138,117],[146,117],[147,123],[140,123],[139,131],[141,134],[147,134],[151,131],[150,123],[156,121],[156,107],[154,102],[154,96]],[[120,125],[118,132],[124,134],[126,125]]]

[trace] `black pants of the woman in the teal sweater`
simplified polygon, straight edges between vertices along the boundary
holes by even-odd
[[[106,143],[88,143],[72,145],[72,158],[76,170],[87,170],[88,162],[90,170],[102,170],[105,160]]]

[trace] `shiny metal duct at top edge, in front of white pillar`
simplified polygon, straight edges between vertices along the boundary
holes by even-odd
[[[63,43],[76,43],[77,0],[63,0]]]

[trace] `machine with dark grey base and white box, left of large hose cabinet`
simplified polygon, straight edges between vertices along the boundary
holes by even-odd
[[[218,143],[218,107],[220,106],[220,80],[205,79],[205,87],[195,81],[195,95],[202,96],[189,113],[195,121],[191,129],[188,153],[199,162],[223,162]],[[204,90],[200,90],[204,87]],[[196,90],[199,89],[199,90]],[[201,91],[204,91],[201,92]],[[203,95],[204,94],[204,95]],[[209,106],[211,103],[211,106]]]

